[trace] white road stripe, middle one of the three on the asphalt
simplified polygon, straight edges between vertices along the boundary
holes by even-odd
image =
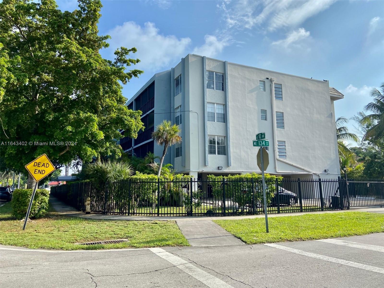
[[[320,260],[324,260],[324,261],[334,262],[334,263],[338,263],[338,264],[342,264],[342,265],[346,265],[346,266],[351,266],[351,267],[355,267],[355,268],[360,268],[360,269],[364,269],[364,270],[368,270],[368,271],[384,274],[384,269],[383,268],[379,268],[379,267],[375,267],[375,266],[369,266],[369,265],[365,265],[365,264],[361,264],[361,263],[357,263],[357,262],[352,262],[352,261],[348,261],[348,260],[333,258],[333,257],[329,257],[329,256],[324,256],[324,255],[320,255],[320,254],[311,253],[311,252],[305,252],[305,251],[302,251],[302,250],[298,250],[298,249],[291,248],[291,247],[286,247],[286,246],[283,246],[283,245],[278,245],[278,244],[275,244],[275,243],[266,243],[264,245],[269,246],[269,247],[273,247],[273,248],[278,248],[278,249],[281,249],[281,250],[285,250],[285,251],[288,251],[288,252],[292,252],[292,253],[295,253],[295,254],[307,256],[307,257],[312,257],[312,258],[316,258],[316,259],[320,259]]]

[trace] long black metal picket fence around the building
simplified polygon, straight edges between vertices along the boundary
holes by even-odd
[[[264,213],[261,179],[77,182],[51,194],[91,213],[140,216],[228,216]],[[374,179],[266,180],[268,214],[384,206],[384,182]]]

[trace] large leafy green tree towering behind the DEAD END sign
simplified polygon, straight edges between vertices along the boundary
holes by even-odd
[[[101,2],[78,3],[73,12],[61,12],[54,0],[0,3],[0,62],[7,64],[0,69],[0,142],[33,143],[0,149],[1,161],[17,172],[43,153],[57,165],[118,157],[118,129],[129,137],[143,129],[141,112],[127,109],[121,93],[121,83],[143,73],[126,71],[140,61],[127,57],[136,48],[121,47],[113,61],[103,59],[99,50],[109,36],[98,35]],[[50,141],[58,145],[34,145]]]

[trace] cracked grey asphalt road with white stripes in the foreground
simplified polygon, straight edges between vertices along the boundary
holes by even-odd
[[[384,233],[337,239],[91,252],[0,246],[0,287],[384,287]]]

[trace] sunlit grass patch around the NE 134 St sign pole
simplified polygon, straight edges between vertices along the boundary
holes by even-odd
[[[247,244],[315,240],[384,232],[384,214],[342,212],[268,218],[215,220]]]

